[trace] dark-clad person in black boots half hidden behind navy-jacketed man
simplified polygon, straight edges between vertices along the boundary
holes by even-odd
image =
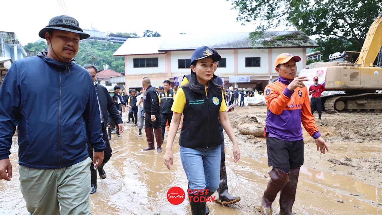
[[[122,121],[122,118],[120,117],[120,114],[117,108],[115,107],[113,103],[113,99],[109,96],[107,89],[104,86],[97,84],[95,82],[95,73],[97,71],[97,67],[95,67],[94,65],[85,65],[85,68],[92,75],[95,92],[97,93],[97,98],[98,98],[102,134],[103,134],[103,139],[106,143],[106,150],[104,151],[105,153],[104,161],[102,162],[101,165],[97,166],[97,170],[98,170],[99,177],[102,179],[105,179],[106,172],[104,170],[104,165],[112,157],[112,148],[110,147],[110,142],[107,138],[107,131],[106,131],[107,121],[108,121],[107,115],[110,114],[113,118],[113,121],[116,122],[115,124],[118,124],[120,133],[122,133],[124,130],[123,124],[122,124],[123,121]],[[93,149],[91,145],[89,145],[89,143],[88,143],[87,150],[89,151],[89,157],[93,160]],[[97,192],[97,170],[95,170],[93,163],[91,163],[91,166],[90,166],[90,174],[91,174],[91,181],[92,181],[91,190],[90,190],[91,194]]]

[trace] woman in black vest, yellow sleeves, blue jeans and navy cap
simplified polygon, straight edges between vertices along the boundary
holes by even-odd
[[[189,189],[209,189],[207,194],[199,192],[189,195],[193,215],[209,213],[206,202],[196,202],[193,197],[211,196],[219,187],[222,143],[219,121],[233,143],[235,163],[240,159],[238,143],[226,112],[227,105],[223,98],[222,86],[211,80],[215,71],[214,62],[220,59],[220,55],[213,54],[207,46],[194,51],[189,83],[178,89],[171,109],[173,117],[168,131],[165,165],[170,169],[170,164],[173,164],[172,144],[183,114],[179,151]]]

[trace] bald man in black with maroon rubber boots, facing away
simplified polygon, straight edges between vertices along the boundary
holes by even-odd
[[[157,140],[157,151],[162,152],[162,130],[160,129],[160,107],[157,91],[151,86],[151,80],[148,77],[143,78],[142,87],[146,90],[143,96],[143,110],[145,112],[144,130],[146,132],[147,143],[149,147],[144,151],[154,150],[154,134]],[[154,128],[154,132],[153,129]]]

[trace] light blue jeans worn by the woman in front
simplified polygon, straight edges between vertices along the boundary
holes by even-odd
[[[213,193],[220,182],[220,145],[212,148],[179,146],[180,160],[190,189],[209,189]]]

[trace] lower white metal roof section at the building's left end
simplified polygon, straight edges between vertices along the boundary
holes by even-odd
[[[163,37],[134,37],[128,38],[117,51],[114,56],[136,55],[136,54],[165,54],[159,52],[159,46],[163,41]]]

